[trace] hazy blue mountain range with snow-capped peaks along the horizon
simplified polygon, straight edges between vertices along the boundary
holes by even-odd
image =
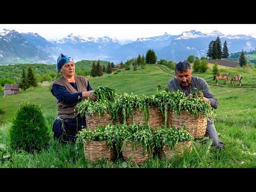
[[[220,37],[222,45],[226,40],[228,51],[250,51],[256,48],[256,38],[249,35],[224,35],[219,31],[202,33],[196,30],[182,32],[179,35],[163,34],[136,41],[121,42],[108,36],[94,38],[78,34],[55,41],[48,41],[37,33],[19,33],[15,30],[0,30],[0,64],[46,63],[56,64],[60,53],[68,54],[74,61],[107,60],[118,64],[148,49],[156,52],[158,60],[166,59],[178,62],[189,55],[206,56],[210,41]]]

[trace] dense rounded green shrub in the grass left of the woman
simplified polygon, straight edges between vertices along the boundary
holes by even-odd
[[[12,148],[21,148],[28,152],[41,150],[48,144],[50,132],[37,103],[26,101],[20,103],[9,130],[9,139]]]

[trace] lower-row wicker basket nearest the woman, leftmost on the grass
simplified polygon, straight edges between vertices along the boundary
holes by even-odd
[[[109,149],[107,141],[87,141],[84,143],[84,157],[94,164],[103,158],[112,161],[116,157],[116,150],[113,146]]]

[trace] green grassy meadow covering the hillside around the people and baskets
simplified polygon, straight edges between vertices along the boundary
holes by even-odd
[[[166,66],[162,66],[169,70]],[[230,82],[223,86],[214,86],[212,71],[193,73],[208,82],[214,96],[218,99],[214,125],[218,136],[226,144],[219,151],[207,144],[196,144],[196,150],[171,162],[153,157],[144,164],[137,166],[128,163],[128,167],[142,168],[256,168],[256,68],[235,69],[219,68],[220,73],[230,72],[242,75],[242,86],[231,86]],[[129,70],[118,74],[88,78],[92,88],[110,86],[119,93],[127,92],[138,95],[152,95],[160,85],[160,91],[167,88],[168,81],[173,78],[158,66],[147,64],[145,69],[138,67],[137,71]],[[237,83],[238,84],[238,83]],[[239,85],[239,84],[238,84]],[[159,89],[158,89],[159,90]],[[3,90],[1,91],[1,95]],[[61,144],[51,140],[49,146],[42,152],[29,154],[23,150],[11,149],[8,146],[8,129],[12,118],[22,100],[36,101],[41,105],[49,129],[57,114],[56,98],[52,96],[49,86],[23,90],[20,94],[0,98],[0,108],[4,110],[2,126],[0,126],[0,167],[12,168],[122,168],[124,160],[119,158],[113,162],[92,164],[84,159],[83,146],[75,148],[74,144]],[[53,135],[53,133],[52,133]],[[2,154],[2,156],[1,156]]]

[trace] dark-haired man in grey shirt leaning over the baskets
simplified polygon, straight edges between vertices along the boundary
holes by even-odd
[[[168,89],[170,91],[181,90],[187,96],[187,98],[194,97],[190,91],[202,90],[204,94],[204,100],[212,106],[214,109],[218,107],[218,101],[212,94],[206,81],[200,77],[192,76],[191,65],[188,61],[178,62],[175,67],[176,78],[172,78],[168,82]],[[196,89],[194,89],[196,88]],[[198,94],[201,97],[201,94]],[[207,119],[207,127],[205,137],[209,137],[212,140],[212,146],[216,148],[222,148],[225,144],[219,140],[216,128],[211,118]]]

